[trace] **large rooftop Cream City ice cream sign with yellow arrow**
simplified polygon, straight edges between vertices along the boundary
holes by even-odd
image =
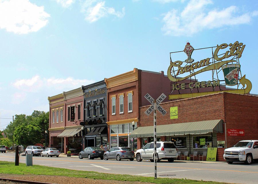
[[[230,48],[227,49],[228,47]],[[220,71],[221,70],[220,68],[222,68],[222,71],[224,74],[223,81],[225,81],[225,85],[234,86],[238,84],[238,81],[243,85],[242,89],[226,90],[227,92],[236,93],[236,94],[246,94],[250,92],[252,88],[251,82],[245,78],[245,75],[242,78],[239,78],[239,71],[240,71],[239,58],[241,58],[244,48],[245,48],[245,45],[243,45],[243,43],[239,43],[238,41],[236,41],[234,44],[222,43],[221,45],[217,45],[215,51],[212,52],[212,55],[213,55],[212,58],[206,58],[198,62],[194,62],[194,60],[191,58],[194,48],[190,45],[190,43],[187,42],[187,44],[185,45],[185,49],[183,50],[183,52],[185,52],[185,54],[187,55],[187,59],[184,62],[182,61],[172,62],[172,60],[170,60],[170,66],[167,70],[167,76],[173,82],[172,89],[184,90],[186,88],[189,88],[189,89],[204,88],[204,87],[215,88],[216,86],[220,86],[220,80],[212,80],[212,81],[209,80],[208,82],[190,81],[188,84],[179,83],[179,82],[186,80],[188,78],[191,78],[202,72],[206,72],[209,70]],[[218,52],[224,52],[224,53],[218,54]],[[246,88],[244,88],[245,85],[247,85]],[[201,96],[204,94],[212,94],[216,92],[217,91],[169,95],[169,99],[189,98],[189,97]]]

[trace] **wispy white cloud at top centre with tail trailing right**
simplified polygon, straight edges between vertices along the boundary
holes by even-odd
[[[105,1],[101,0],[86,0],[83,4],[82,10],[85,13],[85,20],[92,23],[102,17],[114,15],[118,18],[124,17],[125,8],[122,8],[122,12],[115,11],[113,7],[106,7]]]

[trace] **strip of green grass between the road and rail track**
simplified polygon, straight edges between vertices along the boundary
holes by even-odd
[[[56,167],[48,167],[41,165],[26,166],[24,163],[19,163],[19,166],[15,166],[14,162],[0,161],[0,173],[2,174],[35,174],[35,175],[58,175],[58,176],[69,176],[69,177],[82,177],[92,179],[103,179],[106,180],[118,180],[118,181],[140,181],[150,183],[219,183],[211,181],[197,181],[190,179],[171,179],[171,178],[157,178],[154,177],[143,177],[143,176],[132,176],[132,175],[120,175],[120,174],[106,174],[94,171],[78,171],[70,169],[62,169]]]

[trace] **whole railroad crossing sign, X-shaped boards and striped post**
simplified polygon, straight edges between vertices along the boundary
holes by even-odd
[[[167,113],[159,104],[167,97],[164,93],[162,93],[157,100],[154,100],[148,93],[144,96],[146,100],[148,100],[152,105],[145,111],[145,114],[149,116],[153,111],[153,141],[154,141],[154,179],[157,179],[157,117],[156,117],[156,110],[158,110],[163,116]]]

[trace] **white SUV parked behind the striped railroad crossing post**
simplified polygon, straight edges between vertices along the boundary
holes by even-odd
[[[136,151],[136,160],[148,159],[153,162],[154,142],[146,144],[142,149]],[[177,158],[177,149],[173,142],[157,141],[157,162],[161,159],[173,162]]]

